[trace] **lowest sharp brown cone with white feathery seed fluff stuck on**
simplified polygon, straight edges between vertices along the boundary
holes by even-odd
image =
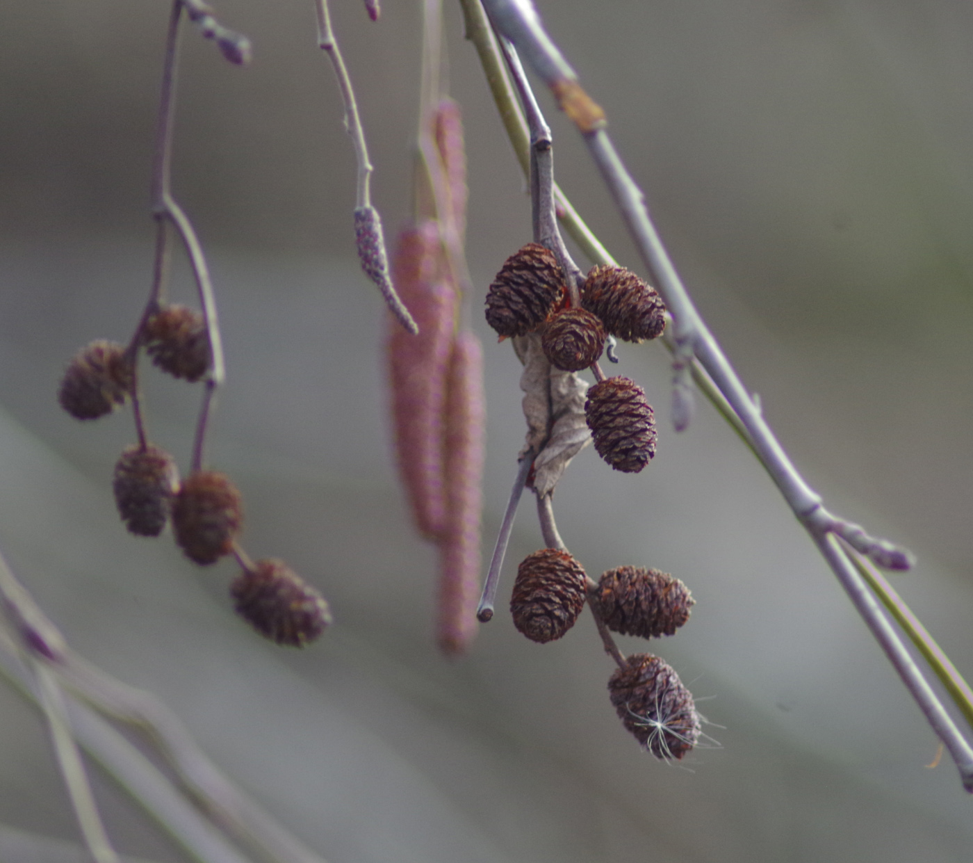
[[[622,724],[656,758],[678,760],[699,740],[693,695],[659,657],[632,654],[615,669],[608,693]]]

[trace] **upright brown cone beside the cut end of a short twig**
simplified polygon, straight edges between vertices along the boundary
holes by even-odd
[[[570,629],[585,607],[585,571],[566,551],[542,548],[528,554],[517,570],[510,611],[514,625],[544,644]]]

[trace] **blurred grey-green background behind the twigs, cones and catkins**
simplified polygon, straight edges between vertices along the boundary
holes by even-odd
[[[458,10],[468,252],[485,288],[529,237],[523,180]],[[895,584],[973,673],[973,7],[958,0],[599,5],[541,13],[606,109],[682,275],[796,464],[838,511],[919,556]],[[432,646],[436,562],[397,488],[383,319],[357,270],[354,162],[309,2],[223,0],[246,69],[187,33],[175,191],[214,271],[228,384],[214,467],[244,543],[286,557],[338,622],[285,652],[234,618],[230,564],[126,536],[110,475],[128,414],[78,424],[54,391],[97,337],[124,341],[149,287],[164,0],[0,4],[0,547],[84,655],[161,694],[214,759],[332,863],[959,861],[973,800],[770,481],[706,406],[676,436],[667,356],[623,347],[659,456],[637,477],[591,450],[556,498],[589,573],[631,563],[698,600],[648,647],[722,749],[691,770],[637,749],[608,704],[587,617],[526,642],[505,613],[468,657]],[[333,10],[386,230],[411,212],[419,7]],[[559,182],[638,261],[586,153],[544,96]],[[175,293],[190,299],[184,267]],[[486,346],[487,550],[523,440],[519,363]],[[146,375],[157,442],[185,467],[198,392]],[[542,544],[522,505],[508,560]],[[183,861],[96,774],[126,853]],[[38,717],[0,690],[0,823],[74,840]],[[0,844],[0,860],[26,858]],[[6,850],[5,850],[6,848]],[[8,857],[5,858],[4,854]],[[51,858],[53,859],[53,858]]]

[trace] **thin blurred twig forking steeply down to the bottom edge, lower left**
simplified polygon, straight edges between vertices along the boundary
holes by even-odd
[[[94,863],[120,863],[91,794],[88,773],[68,723],[64,696],[51,669],[39,659],[32,659],[30,664],[37,682],[38,703],[48,722],[57,767],[78,819],[85,846]]]

